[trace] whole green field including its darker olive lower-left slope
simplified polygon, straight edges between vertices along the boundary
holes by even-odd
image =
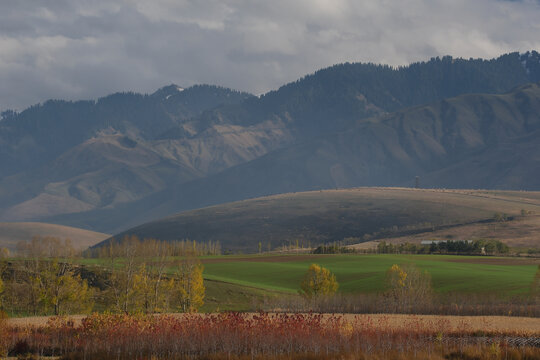
[[[177,259],[176,259],[177,260]],[[439,294],[511,299],[528,296],[539,259],[452,255],[223,255],[201,258],[206,286],[204,312],[247,311],[265,299],[298,293],[309,265],[332,271],[342,294],[375,294],[385,290],[393,264],[415,264],[427,271]],[[81,259],[101,266],[102,259]],[[174,267],[169,272],[175,271]]]

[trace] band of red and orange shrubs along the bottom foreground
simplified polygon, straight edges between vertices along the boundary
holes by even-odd
[[[527,337],[476,334],[444,320],[427,324],[412,318],[396,328],[384,318],[222,313],[95,314],[80,324],[57,317],[41,327],[7,328],[2,340],[11,356],[24,351],[61,359],[442,359],[467,353],[480,354],[475,359],[538,358],[540,349],[512,343]]]

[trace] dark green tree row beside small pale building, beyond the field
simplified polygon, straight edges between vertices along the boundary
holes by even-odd
[[[379,254],[451,254],[451,255],[496,255],[508,254],[510,248],[499,240],[434,241],[431,244],[390,244],[381,241],[377,245]]]

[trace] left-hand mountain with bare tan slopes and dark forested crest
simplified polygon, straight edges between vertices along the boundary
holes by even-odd
[[[251,160],[290,138],[269,122],[195,126],[190,116],[205,107],[249,95],[213,86],[179,89],[115,94],[97,103],[51,101],[1,121],[0,218],[112,207]],[[171,126],[183,137],[167,139]]]

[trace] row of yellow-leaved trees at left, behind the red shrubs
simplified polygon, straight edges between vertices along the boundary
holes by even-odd
[[[204,304],[200,244],[136,236],[111,241],[89,259],[69,240],[35,237],[0,259],[0,310],[11,314],[193,312]]]

